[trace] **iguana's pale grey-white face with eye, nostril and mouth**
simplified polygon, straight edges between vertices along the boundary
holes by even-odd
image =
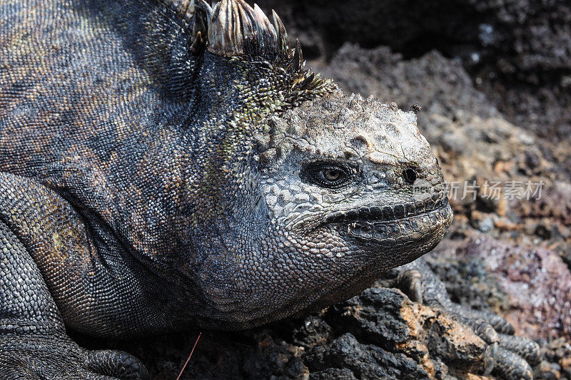
[[[443,175],[416,120],[340,91],[268,119],[258,207],[296,252],[328,262],[329,275],[338,265],[345,280],[335,284],[415,260],[450,225]]]

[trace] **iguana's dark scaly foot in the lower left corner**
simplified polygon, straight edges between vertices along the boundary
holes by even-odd
[[[0,335],[0,379],[149,379],[141,361],[123,351],[88,351],[68,337]]]

